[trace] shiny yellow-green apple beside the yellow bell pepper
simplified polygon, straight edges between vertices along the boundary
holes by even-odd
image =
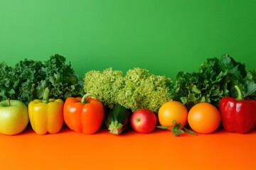
[[[28,125],[28,107],[21,101],[0,102],[0,133],[16,135]]]

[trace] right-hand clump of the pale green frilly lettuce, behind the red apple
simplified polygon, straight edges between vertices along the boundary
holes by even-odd
[[[171,100],[171,83],[171,79],[150,74],[147,69],[129,69],[117,96],[117,103],[132,111],[148,108],[156,112],[162,104]]]

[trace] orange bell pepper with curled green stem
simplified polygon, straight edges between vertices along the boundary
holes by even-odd
[[[100,129],[104,118],[104,107],[95,94],[85,94],[82,98],[67,98],[63,113],[68,128],[90,135]]]

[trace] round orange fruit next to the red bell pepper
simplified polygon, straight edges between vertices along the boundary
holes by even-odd
[[[210,103],[197,103],[188,112],[188,125],[199,133],[214,132],[220,125],[220,112]]]

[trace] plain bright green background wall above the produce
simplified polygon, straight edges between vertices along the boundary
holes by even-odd
[[[59,54],[90,69],[149,69],[175,78],[230,54],[256,69],[254,0],[9,0],[0,2],[0,61]]]

